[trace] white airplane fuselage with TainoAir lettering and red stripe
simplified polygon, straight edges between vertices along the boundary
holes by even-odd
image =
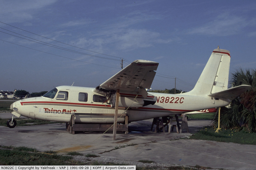
[[[104,94],[95,92],[95,88],[59,86],[56,89],[44,95],[46,97],[33,97],[14,102],[12,107],[16,113],[13,112],[13,114],[32,119],[69,122],[71,114],[76,113],[75,122],[113,123],[113,116],[104,114],[114,115],[115,108],[103,103],[107,98]],[[147,98],[144,99],[136,93],[120,91],[118,113],[128,114],[129,122],[133,122],[226,106],[229,102],[228,99],[215,99],[208,95],[191,96],[186,93],[149,92]],[[123,122],[124,118],[121,117],[118,123]]]

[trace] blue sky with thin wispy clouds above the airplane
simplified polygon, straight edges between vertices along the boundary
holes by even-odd
[[[123,58],[159,62],[152,89],[177,77],[189,91],[218,45],[231,53],[230,75],[255,69],[256,1],[0,2],[0,90],[96,87]]]

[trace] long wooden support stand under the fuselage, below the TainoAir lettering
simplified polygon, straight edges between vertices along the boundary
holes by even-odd
[[[76,113],[73,113],[71,115],[69,124],[66,125],[67,131],[69,131],[71,134],[75,134],[77,131],[106,131],[108,130],[112,124],[79,124],[75,123],[75,116],[79,115]],[[113,116],[113,114],[100,114],[100,113],[88,113],[83,115],[98,115],[98,116]],[[122,116],[122,114],[118,114],[118,116]],[[125,134],[128,134],[128,116],[127,114],[123,114],[125,118],[125,124],[118,124],[116,127],[116,131],[122,131],[125,132]],[[113,126],[108,131],[113,131]]]

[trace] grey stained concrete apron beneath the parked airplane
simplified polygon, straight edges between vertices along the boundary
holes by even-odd
[[[153,133],[150,131],[152,121],[130,123],[129,134],[117,133],[115,141],[112,140],[112,132],[81,132],[72,135],[65,130],[66,124],[61,123],[15,128],[0,126],[0,145],[26,146],[39,151],[57,150],[63,153],[79,151],[121,160],[150,160],[164,164],[237,170],[256,169],[254,145],[186,140],[192,133],[209,125],[210,121],[189,120],[190,133],[181,134],[177,134],[175,129],[170,134]]]

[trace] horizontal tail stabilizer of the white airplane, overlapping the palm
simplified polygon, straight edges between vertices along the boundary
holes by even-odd
[[[239,96],[243,92],[247,91],[251,87],[252,86],[250,86],[250,85],[240,85],[240,86],[237,86],[237,87],[229,88],[227,90],[219,91],[217,93],[212,93],[208,96],[215,97],[215,98],[224,97],[224,98],[233,100],[234,98],[236,98],[237,96]]]

